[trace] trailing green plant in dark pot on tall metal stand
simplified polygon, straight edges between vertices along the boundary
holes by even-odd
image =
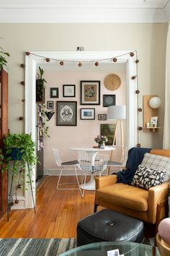
[[[4,148],[1,151],[0,164],[3,164],[2,170],[8,171],[8,173],[12,176],[7,208],[9,219],[9,210],[13,200],[12,188],[14,184],[14,177],[17,176],[17,174],[27,177],[26,184],[30,186],[32,192],[32,201],[35,209],[32,187],[32,168],[37,162],[37,157],[35,155],[35,142],[32,141],[31,135],[24,133],[9,133],[6,135],[3,142]],[[13,163],[11,161],[13,161]],[[17,186],[19,186],[19,188],[27,189],[27,187],[24,187],[24,184],[18,184]]]

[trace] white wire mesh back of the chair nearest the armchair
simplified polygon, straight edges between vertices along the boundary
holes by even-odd
[[[107,168],[107,161],[109,155],[106,154],[97,154],[94,153],[79,153],[79,168],[82,171],[86,171],[92,174],[96,172],[102,173],[105,168]]]

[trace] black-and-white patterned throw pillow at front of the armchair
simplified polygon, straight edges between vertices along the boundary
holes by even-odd
[[[166,170],[158,171],[139,165],[131,185],[142,187],[143,189],[150,189],[151,187],[162,184],[165,174]]]

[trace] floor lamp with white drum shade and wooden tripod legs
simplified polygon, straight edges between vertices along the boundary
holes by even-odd
[[[124,158],[124,135],[123,135],[123,127],[122,127],[122,120],[126,119],[126,106],[120,105],[120,106],[109,106],[107,107],[107,120],[116,121],[116,127],[115,127],[115,135],[113,138],[113,145],[115,145],[115,139],[117,136],[117,130],[118,127],[120,127],[120,138],[121,138],[121,144],[122,144],[122,156]],[[111,153],[111,159],[112,159],[112,153]]]

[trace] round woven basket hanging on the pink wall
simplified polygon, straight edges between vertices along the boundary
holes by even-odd
[[[104,85],[108,90],[117,90],[121,85],[120,77],[117,74],[109,74],[104,79]]]

